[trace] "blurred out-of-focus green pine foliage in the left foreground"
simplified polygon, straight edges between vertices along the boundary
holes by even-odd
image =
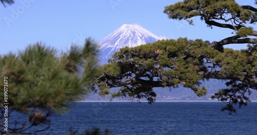
[[[8,78],[9,110],[28,114],[27,122],[32,126],[49,122],[47,117],[51,110],[62,113],[68,109],[67,103],[81,100],[90,92],[87,86],[98,73],[97,56],[97,44],[90,38],[83,48],[72,45],[66,52],[37,42],[18,54],[2,55],[0,81]],[[1,97],[4,97],[4,87],[7,86],[0,83]],[[3,103],[4,98],[1,98],[1,109],[4,109]],[[3,113],[1,115],[4,118]],[[25,127],[13,132],[23,133]]]

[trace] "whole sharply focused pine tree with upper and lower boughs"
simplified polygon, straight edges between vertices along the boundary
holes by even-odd
[[[197,96],[208,89],[200,81],[226,80],[227,88],[212,97],[228,104],[222,110],[233,113],[234,104],[247,105],[248,95],[257,89],[257,32],[249,25],[257,21],[257,9],[238,5],[234,0],[184,0],[164,8],[170,19],[199,16],[208,27],[231,29],[233,36],[221,41],[189,40],[187,38],[160,40],[134,48],[122,48],[108,64],[101,67],[102,75],[95,82],[100,95],[109,94],[111,87],[121,87],[115,97],[146,98],[155,101],[154,87],[191,88]],[[224,23],[223,23],[223,22]],[[200,38],[200,37],[199,37]],[[248,49],[224,49],[226,44],[248,43]],[[155,79],[153,79],[155,78]]]

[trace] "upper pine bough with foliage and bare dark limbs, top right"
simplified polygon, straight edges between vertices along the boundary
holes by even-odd
[[[210,47],[223,51],[223,46],[230,43],[257,43],[257,38],[245,38],[257,36],[257,32],[247,25],[255,24],[257,9],[249,5],[238,5],[234,0],[184,0],[174,5],[166,6],[164,13],[170,19],[186,19],[193,25],[192,17],[199,16],[207,27],[231,29],[234,36],[213,42]],[[243,37],[243,38],[242,38]]]

